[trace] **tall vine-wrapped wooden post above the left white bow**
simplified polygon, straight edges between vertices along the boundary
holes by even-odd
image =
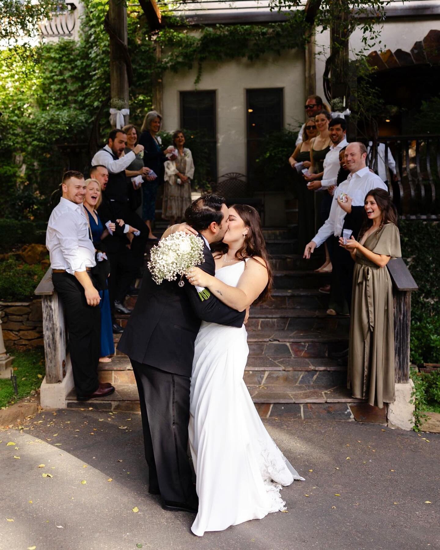
[[[120,109],[128,109],[128,76],[127,64],[124,53],[118,39],[125,46],[128,43],[127,33],[127,7],[123,0],[109,0],[108,23],[112,32],[110,39],[110,106]],[[124,116],[124,124],[128,124],[128,115]]]

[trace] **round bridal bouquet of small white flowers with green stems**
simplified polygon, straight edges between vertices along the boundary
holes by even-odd
[[[159,241],[159,244],[151,249],[151,257],[147,266],[153,281],[161,284],[163,279],[175,281],[180,275],[179,287],[185,284],[183,276],[191,267],[204,263],[204,243],[195,235],[188,235],[183,231],[177,231]],[[199,288],[197,288],[199,291]],[[206,300],[210,292],[200,289],[200,299]]]

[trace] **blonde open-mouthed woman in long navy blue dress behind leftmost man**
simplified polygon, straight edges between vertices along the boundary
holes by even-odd
[[[87,190],[84,199],[84,207],[89,216],[90,230],[95,249],[100,250],[100,243],[108,235],[108,230],[102,225],[102,222],[96,212],[102,201],[101,186],[96,179],[87,179]],[[108,288],[100,290],[100,309],[101,309],[101,353],[100,363],[109,363],[114,355],[112,314],[110,310],[110,298]]]

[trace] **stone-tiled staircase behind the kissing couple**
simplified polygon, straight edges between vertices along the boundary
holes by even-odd
[[[249,359],[244,380],[262,417],[288,415],[298,419],[332,416],[338,420],[363,420],[364,401],[346,389],[346,367],[329,354],[348,347],[349,318],[326,314],[328,296],[318,288],[329,282],[326,274],[313,270],[322,257],[306,261],[297,254],[296,227],[265,228],[274,273],[273,300],[250,311]],[[136,296],[128,296],[133,307]],[[127,315],[119,315],[124,327]],[[117,346],[119,335],[114,335]],[[116,349],[111,363],[100,364],[100,380],[111,382],[116,391],[108,398],[94,399],[95,409],[139,411],[139,397],[127,356]],[[84,408],[74,392],[67,406]],[[363,415],[363,416],[362,416]],[[379,417],[379,423],[386,419]]]

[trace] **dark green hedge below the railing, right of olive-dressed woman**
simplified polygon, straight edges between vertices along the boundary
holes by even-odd
[[[440,362],[440,223],[399,223],[402,255],[419,290],[411,294],[411,361]]]

